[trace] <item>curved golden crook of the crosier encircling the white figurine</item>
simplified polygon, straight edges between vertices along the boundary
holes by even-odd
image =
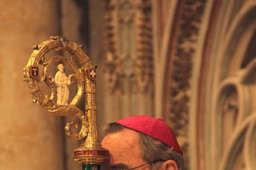
[[[45,54],[51,50],[64,50],[69,52],[79,63],[77,68],[72,59],[66,59],[62,56],[54,56],[45,62]],[[53,102],[55,95],[55,89],[53,86],[54,79],[52,76],[47,77],[47,69],[51,62],[61,60],[63,62],[69,63],[72,70],[75,72],[72,77],[77,79],[78,90],[72,102],[69,105],[57,105]],[[39,77],[39,65],[43,65],[43,71],[41,78]],[[27,81],[28,87],[30,89],[30,94],[33,97],[33,102],[39,103],[41,107],[45,108],[46,111],[53,115],[59,116],[75,116],[81,121],[81,129],[79,133],[71,132],[72,126],[77,128],[77,123],[74,121],[67,123],[65,127],[65,132],[68,137],[72,139],[85,139],[88,134],[88,119],[87,116],[76,107],[77,103],[83,97],[83,92],[85,91],[85,86],[87,81],[85,81],[85,71],[88,68],[92,68],[90,59],[88,55],[85,54],[83,49],[79,47],[74,42],[66,40],[66,38],[60,36],[53,36],[48,41],[43,41],[38,46],[34,46],[34,51],[28,60],[27,66],[23,69],[24,81]],[[41,92],[38,83],[45,82],[46,85],[51,89],[51,96],[48,97]],[[85,95],[87,92],[85,91]],[[90,106],[89,106],[90,107]]]

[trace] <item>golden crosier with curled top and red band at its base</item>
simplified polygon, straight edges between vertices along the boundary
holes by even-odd
[[[72,139],[83,139],[79,148],[74,150],[74,159],[79,163],[100,164],[109,159],[108,150],[101,147],[96,127],[96,74],[95,68],[88,55],[75,42],[68,41],[61,36],[51,36],[49,40],[41,42],[33,47],[34,51],[23,69],[24,81],[28,83],[33,102],[38,103],[46,111],[58,116],[75,116],[81,121],[80,132],[74,133],[71,127],[78,127],[75,121],[66,124],[66,135]],[[45,55],[52,50],[67,51],[72,57],[67,59],[56,55],[45,60]],[[76,79],[77,94],[68,105],[57,105],[54,103],[56,87],[53,76],[48,76],[48,68],[51,63],[62,62],[72,68],[74,74],[69,79]],[[39,75],[39,67],[43,67],[42,75]],[[51,95],[44,95],[41,92],[39,83],[45,83],[51,89]],[[85,99],[85,113],[76,105]]]

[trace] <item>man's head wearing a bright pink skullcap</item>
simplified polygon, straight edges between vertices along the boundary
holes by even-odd
[[[162,119],[132,116],[110,123],[101,144],[110,152],[107,169],[183,169],[182,150]]]

